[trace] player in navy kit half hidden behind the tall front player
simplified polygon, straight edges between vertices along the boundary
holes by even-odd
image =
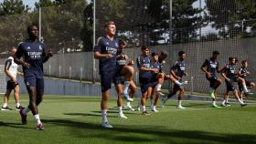
[[[118,95],[118,99],[117,99],[118,117],[126,119],[127,117],[124,116],[123,109],[122,109],[122,105],[123,105],[122,92],[123,92],[123,84],[124,84],[123,67],[128,67],[128,68],[133,69],[133,67],[131,67],[131,65],[133,65],[134,62],[133,62],[133,60],[129,59],[129,57],[127,57],[127,55],[125,55],[123,53],[124,46],[125,46],[124,41],[119,40],[119,50],[117,52],[117,71],[116,71],[116,75],[114,77],[114,85],[116,87],[116,92]],[[130,88],[130,97],[133,98],[133,95],[136,90],[136,86],[135,86],[133,80],[130,81],[129,88]],[[127,101],[126,108],[134,110],[129,101]]]

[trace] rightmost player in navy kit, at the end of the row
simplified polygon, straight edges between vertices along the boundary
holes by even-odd
[[[251,88],[255,87],[255,83],[248,79],[248,76],[251,75],[251,73],[247,70],[248,61],[247,60],[242,60],[241,65],[242,66],[240,67],[238,76],[245,80],[246,86],[249,87],[248,90],[251,91]],[[244,89],[243,89],[241,84],[239,84],[239,89],[240,89],[240,99],[243,100]],[[252,93],[250,93],[250,94],[252,94]]]

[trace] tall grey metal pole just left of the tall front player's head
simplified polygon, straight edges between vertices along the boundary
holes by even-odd
[[[93,47],[95,46],[95,40],[96,40],[96,0],[93,0]],[[93,47],[92,47],[92,57],[94,55],[93,53]],[[92,58],[92,83],[95,83],[95,78],[96,78],[96,67],[95,67],[95,58]]]

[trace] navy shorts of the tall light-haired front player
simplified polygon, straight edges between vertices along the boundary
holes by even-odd
[[[116,71],[113,69],[112,71],[101,73],[101,92],[105,92],[112,88],[112,82],[114,80]]]

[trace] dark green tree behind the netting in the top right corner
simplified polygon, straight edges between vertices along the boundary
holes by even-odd
[[[256,26],[256,2],[252,0],[207,0],[208,21],[219,29],[219,36],[248,36],[246,29]]]

